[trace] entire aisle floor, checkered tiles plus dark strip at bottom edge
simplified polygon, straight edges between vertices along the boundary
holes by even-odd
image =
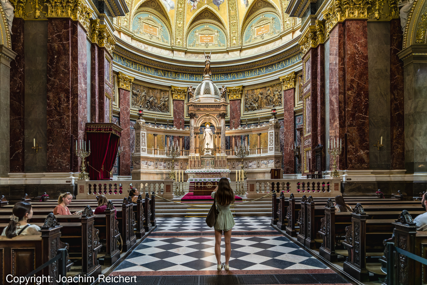
[[[230,271],[216,270],[214,232],[204,218],[158,218],[157,229],[110,275],[137,276],[137,284],[348,284],[273,230],[269,217],[235,222]],[[222,244],[222,262],[224,251]]]

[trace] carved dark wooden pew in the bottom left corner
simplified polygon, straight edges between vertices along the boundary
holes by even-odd
[[[1,284],[8,284],[6,282],[7,275],[25,276],[35,268],[53,259],[57,255],[58,249],[68,249],[68,244],[60,240],[61,229],[62,226],[57,223],[55,216],[50,214],[41,226],[41,236],[25,235],[16,236],[15,238],[0,236]],[[58,270],[58,262],[45,267],[35,276],[52,276],[55,280],[58,280],[60,272]],[[73,263],[67,259],[66,271],[70,270],[72,265]],[[48,284],[52,283],[42,282],[42,285]]]

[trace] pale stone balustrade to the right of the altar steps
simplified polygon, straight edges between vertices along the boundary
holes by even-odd
[[[267,194],[272,190],[295,194],[340,193],[341,179],[247,179],[248,194]]]

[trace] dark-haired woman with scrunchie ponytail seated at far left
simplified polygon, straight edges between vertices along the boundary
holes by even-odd
[[[17,235],[41,235],[40,227],[27,223],[32,217],[32,206],[28,202],[18,202],[13,206],[9,225],[3,229],[1,235],[14,238]]]

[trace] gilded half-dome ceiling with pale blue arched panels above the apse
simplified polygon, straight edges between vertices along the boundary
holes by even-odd
[[[288,0],[126,0],[116,27],[157,47],[213,50],[266,44],[295,29]],[[298,22],[297,22],[298,21]],[[279,36],[281,34],[281,36]],[[285,33],[286,34],[286,33]]]

